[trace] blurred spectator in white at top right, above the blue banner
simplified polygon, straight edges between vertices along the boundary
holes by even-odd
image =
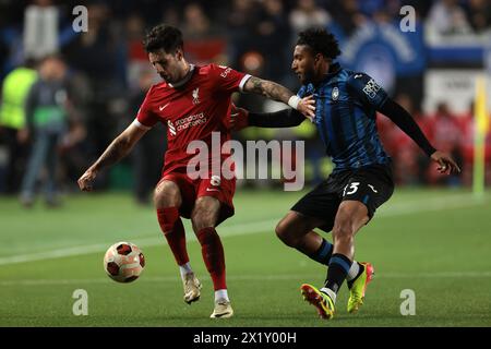
[[[471,32],[464,9],[458,0],[438,0],[428,16],[428,25],[440,35],[468,34]]]

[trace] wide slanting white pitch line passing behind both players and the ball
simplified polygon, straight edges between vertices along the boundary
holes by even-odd
[[[448,195],[444,197],[430,197],[424,200],[424,204],[420,201],[390,204],[375,214],[375,217],[393,217],[403,215],[412,215],[421,212],[434,212],[442,209],[460,208],[466,206],[475,206],[486,204],[487,200],[474,200],[470,194]],[[274,230],[274,227],[280,218],[261,220],[255,222],[238,224],[223,227],[220,226],[220,237],[236,237],[244,234],[253,234],[266,230]],[[196,241],[194,234],[187,236],[188,241]],[[136,243],[139,246],[148,248],[164,243],[164,238],[133,238],[127,239]],[[67,249],[58,249],[39,253],[20,254],[8,257],[0,257],[0,265],[10,265],[25,262],[36,262],[52,258],[60,258],[74,255],[84,255],[91,253],[105,252],[111,243],[98,243],[91,245],[81,245]]]

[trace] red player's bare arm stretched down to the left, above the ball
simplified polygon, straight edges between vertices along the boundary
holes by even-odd
[[[134,123],[130,124],[120,135],[118,135],[100,157],[85,171],[79,179],[79,186],[82,191],[92,191],[97,172],[121,160],[130,153],[136,142],[147,132]]]

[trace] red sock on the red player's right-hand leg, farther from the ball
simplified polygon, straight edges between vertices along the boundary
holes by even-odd
[[[203,261],[212,276],[215,291],[227,289],[227,282],[225,281],[225,254],[220,237],[218,237],[213,227],[201,229],[196,237],[201,243]]]

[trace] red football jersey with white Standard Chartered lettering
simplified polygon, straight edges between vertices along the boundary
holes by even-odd
[[[220,147],[230,140],[230,96],[241,91],[250,75],[231,68],[208,64],[191,65],[192,75],[182,85],[166,82],[153,85],[146,94],[134,123],[149,129],[157,122],[167,124],[168,148],[164,174],[187,167],[195,154],[188,144],[203,141],[212,156],[212,132],[220,132]],[[229,154],[221,155],[221,160]]]

